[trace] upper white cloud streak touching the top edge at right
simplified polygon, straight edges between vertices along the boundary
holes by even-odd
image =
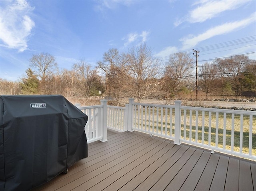
[[[200,0],[193,4],[197,5],[194,10],[190,11],[184,18],[177,19],[174,25],[178,26],[185,21],[190,23],[204,22],[218,16],[221,12],[234,10],[249,1],[250,0]]]

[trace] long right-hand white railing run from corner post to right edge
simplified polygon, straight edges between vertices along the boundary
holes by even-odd
[[[132,102],[132,129],[256,160],[256,112]]]

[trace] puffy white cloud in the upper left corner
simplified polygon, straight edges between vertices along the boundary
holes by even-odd
[[[0,8],[0,39],[4,43],[1,46],[22,52],[27,49],[28,36],[35,26],[28,16],[33,8],[26,0],[15,0],[9,3]]]

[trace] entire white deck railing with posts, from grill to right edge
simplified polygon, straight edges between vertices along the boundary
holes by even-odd
[[[234,156],[256,160],[256,112],[175,105],[142,104],[129,99],[125,107],[79,107],[88,115],[88,142],[106,141],[106,128],[140,131]],[[105,124],[105,125],[104,125]]]

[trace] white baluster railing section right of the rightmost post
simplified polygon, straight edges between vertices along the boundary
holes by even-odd
[[[256,112],[188,106],[180,109],[181,142],[256,160]]]

